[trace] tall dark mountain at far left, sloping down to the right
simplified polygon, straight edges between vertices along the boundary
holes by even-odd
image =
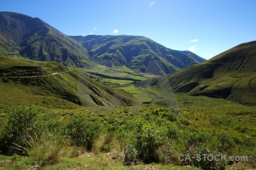
[[[57,61],[65,66],[90,67],[87,50],[39,18],[0,12],[0,54],[18,54],[38,61]]]

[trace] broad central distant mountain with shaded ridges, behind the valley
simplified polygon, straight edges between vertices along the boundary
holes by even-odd
[[[89,51],[94,62],[126,65],[142,73],[166,75],[205,59],[187,51],[172,50],[143,36],[70,36]]]

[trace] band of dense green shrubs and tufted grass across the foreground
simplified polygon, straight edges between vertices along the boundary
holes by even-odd
[[[128,109],[116,109],[111,117],[117,118],[118,113],[126,112],[125,108]],[[241,108],[246,107],[241,105]],[[241,108],[237,107],[238,112],[234,112],[238,120],[243,114],[239,113]],[[245,124],[243,130],[237,127],[234,130],[230,124],[235,121],[230,119],[230,122],[225,122],[226,115],[201,114],[195,117],[195,113],[185,109],[177,111],[177,108],[160,105],[157,108],[154,104],[141,107],[139,114],[131,116],[133,109],[131,107],[126,112],[130,116],[123,114],[125,119],[117,126],[115,121],[108,120],[108,114],[102,121],[79,114],[79,109],[73,114],[59,114],[57,110],[49,112],[38,107],[20,106],[7,113],[6,121],[2,121],[0,150],[6,156],[0,156],[0,167],[186,169],[189,166],[190,169],[253,169],[256,166],[255,127],[249,128]],[[193,110],[196,111],[195,108]],[[248,112],[243,114],[245,119],[248,114],[255,118],[255,112]],[[200,121],[201,118],[204,122]],[[196,119],[201,125],[199,122],[196,124]],[[222,126],[218,126],[217,122]],[[193,156],[209,152],[251,158],[241,163],[179,160],[180,154]]]

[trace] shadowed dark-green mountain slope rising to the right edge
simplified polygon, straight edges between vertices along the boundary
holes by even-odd
[[[221,97],[256,104],[256,41],[235,46],[204,63],[188,66],[143,86],[166,87],[193,96]]]

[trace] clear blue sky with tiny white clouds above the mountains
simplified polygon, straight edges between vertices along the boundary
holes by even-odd
[[[2,0],[67,35],[139,35],[209,59],[256,40],[255,0]]]

